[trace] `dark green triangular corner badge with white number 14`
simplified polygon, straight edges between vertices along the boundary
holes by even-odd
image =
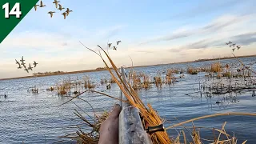
[[[37,2],[38,0],[0,0],[0,43]]]

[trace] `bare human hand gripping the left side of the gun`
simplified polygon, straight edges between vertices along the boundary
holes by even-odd
[[[110,116],[106,118],[100,127],[98,144],[118,144],[118,124],[121,106],[116,104]]]

